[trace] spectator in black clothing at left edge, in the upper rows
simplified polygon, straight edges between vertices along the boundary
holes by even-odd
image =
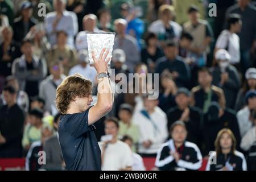
[[[11,64],[21,56],[20,48],[13,40],[13,29],[5,27],[2,29],[3,42],[0,45],[0,77],[11,75]]]

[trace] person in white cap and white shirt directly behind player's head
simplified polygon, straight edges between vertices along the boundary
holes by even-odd
[[[81,74],[86,79],[92,81],[93,84],[96,82],[97,72],[93,67],[90,67],[89,55],[87,49],[82,49],[78,53],[79,64],[71,68],[68,75],[74,75],[75,73]]]

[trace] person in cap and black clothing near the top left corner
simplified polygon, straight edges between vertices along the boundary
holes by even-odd
[[[14,40],[22,42],[30,29],[35,26],[38,21],[32,17],[32,4],[29,1],[24,1],[20,4],[21,15],[14,19],[13,32]]]

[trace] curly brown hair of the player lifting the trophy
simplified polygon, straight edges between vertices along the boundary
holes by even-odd
[[[56,90],[56,107],[61,114],[66,114],[69,104],[76,97],[87,97],[92,94],[92,82],[79,73],[66,77]]]

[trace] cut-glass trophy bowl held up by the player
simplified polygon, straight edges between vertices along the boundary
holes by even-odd
[[[109,49],[109,54],[106,57],[106,60],[108,60],[108,58],[110,58],[111,60],[115,38],[114,32],[86,32],[86,36],[88,43],[89,61],[91,67],[94,67],[92,51],[94,51],[94,54],[98,59],[103,48]],[[110,61],[108,67],[110,67]]]

